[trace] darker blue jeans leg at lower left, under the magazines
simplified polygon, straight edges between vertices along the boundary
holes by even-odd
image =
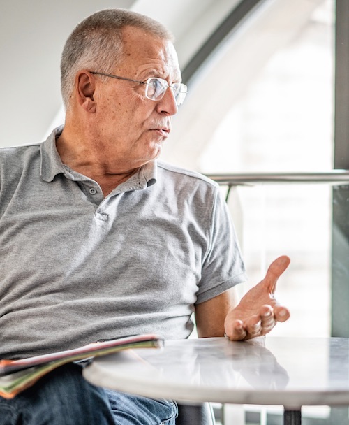
[[[114,425],[105,392],[81,370],[69,363],[13,399],[0,397],[1,425]]]

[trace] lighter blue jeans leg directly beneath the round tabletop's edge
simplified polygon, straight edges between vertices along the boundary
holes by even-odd
[[[105,389],[117,425],[174,425],[177,405]]]

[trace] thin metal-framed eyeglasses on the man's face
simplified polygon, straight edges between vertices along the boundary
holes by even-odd
[[[145,81],[139,81],[132,80],[131,78],[119,77],[118,75],[106,74],[103,72],[89,72],[91,74],[103,75],[104,77],[117,78],[117,80],[133,81],[138,82],[139,84],[144,84],[145,97],[147,97],[147,99],[150,99],[151,101],[159,101],[160,99],[163,99],[166,90],[168,89],[168,87],[171,87],[171,89],[173,90],[174,99],[176,100],[177,106],[179,106],[184,102],[184,99],[186,99],[186,93],[188,92],[188,88],[185,84],[182,84],[181,82],[174,82],[170,85],[166,80],[163,80],[163,78],[151,77]]]

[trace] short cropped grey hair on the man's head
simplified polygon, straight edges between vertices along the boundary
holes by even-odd
[[[124,27],[136,27],[173,41],[163,24],[131,10],[106,9],[90,15],[77,24],[61,55],[61,94],[66,108],[69,108],[75,75],[80,69],[112,72],[123,52]]]

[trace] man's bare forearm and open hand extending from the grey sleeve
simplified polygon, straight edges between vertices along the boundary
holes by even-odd
[[[239,303],[232,288],[198,304],[195,310],[198,336],[223,336],[226,333],[231,340],[248,340],[269,333],[277,322],[285,322],[290,312],[277,303],[274,293],[276,282],[288,264],[290,259],[286,256],[273,261],[265,278]]]

